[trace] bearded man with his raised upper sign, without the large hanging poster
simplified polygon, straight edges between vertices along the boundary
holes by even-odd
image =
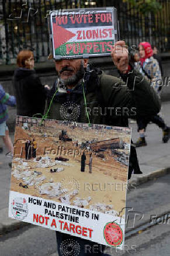
[[[159,99],[154,90],[129,65],[125,42],[116,42],[115,8],[98,9],[91,14],[88,9],[87,14],[79,16],[78,10],[75,14],[69,11],[61,16],[54,14],[50,16],[51,41],[58,80],[48,97],[48,118],[127,127],[130,117],[159,112]],[[90,56],[110,55],[124,82],[98,70],[89,70]],[[133,172],[141,173],[136,150],[131,147],[129,178]],[[71,238],[81,247],[79,254],[74,255],[94,254],[93,242],[57,232],[59,255],[63,255],[64,242],[71,242]],[[103,245],[98,248],[98,255],[105,255],[103,248]]]

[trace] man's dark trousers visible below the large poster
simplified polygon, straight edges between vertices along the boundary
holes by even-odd
[[[59,256],[106,256],[103,254],[105,245],[56,231]]]

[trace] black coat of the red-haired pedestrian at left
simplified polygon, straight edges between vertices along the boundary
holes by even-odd
[[[19,116],[33,117],[44,113],[46,90],[35,70],[18,68],[13,76],[16,109]]]

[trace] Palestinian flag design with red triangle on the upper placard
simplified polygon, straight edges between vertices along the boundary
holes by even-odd
[[[101,23],[98,26],[89,26],[89,23],[82,23],[76,26],[62,24],[58,18],[53,18],[53,39],[55,56],[77,56],[84,53],[102,54],[110,53],[115,43],[113,25],[106,26]],[[62,19],[61,19],[62,21]]]

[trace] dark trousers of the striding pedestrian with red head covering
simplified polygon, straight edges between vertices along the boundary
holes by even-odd
[[[151,116],[151,117],[147,117],[147,118],[139,118],[137,119],[137,124],[138,124],[138,131],[139,130],[145,130],[148,123],[155,123],[157,124],[157,126],[159,126],[159,128],[161,129],[165,129],[166,124],[164,122],[164,120],[162,119],[162,117],[160,117],[158,114],[157,116]]]

